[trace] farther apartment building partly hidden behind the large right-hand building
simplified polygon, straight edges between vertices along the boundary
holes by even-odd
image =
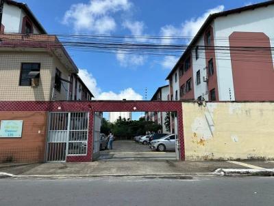
[[[167,100],[169,100],[169,85],[159,87],[151,98],[151,101],[167,101]],[[145,117],[147,120],[151,120],[151,121],[154,121],[155,123],[162,125],[161,132],[166,134],[170,133],[166,130],[166,127],[164,126],[164,119],[166,118],[166,112],[146,112]]]

